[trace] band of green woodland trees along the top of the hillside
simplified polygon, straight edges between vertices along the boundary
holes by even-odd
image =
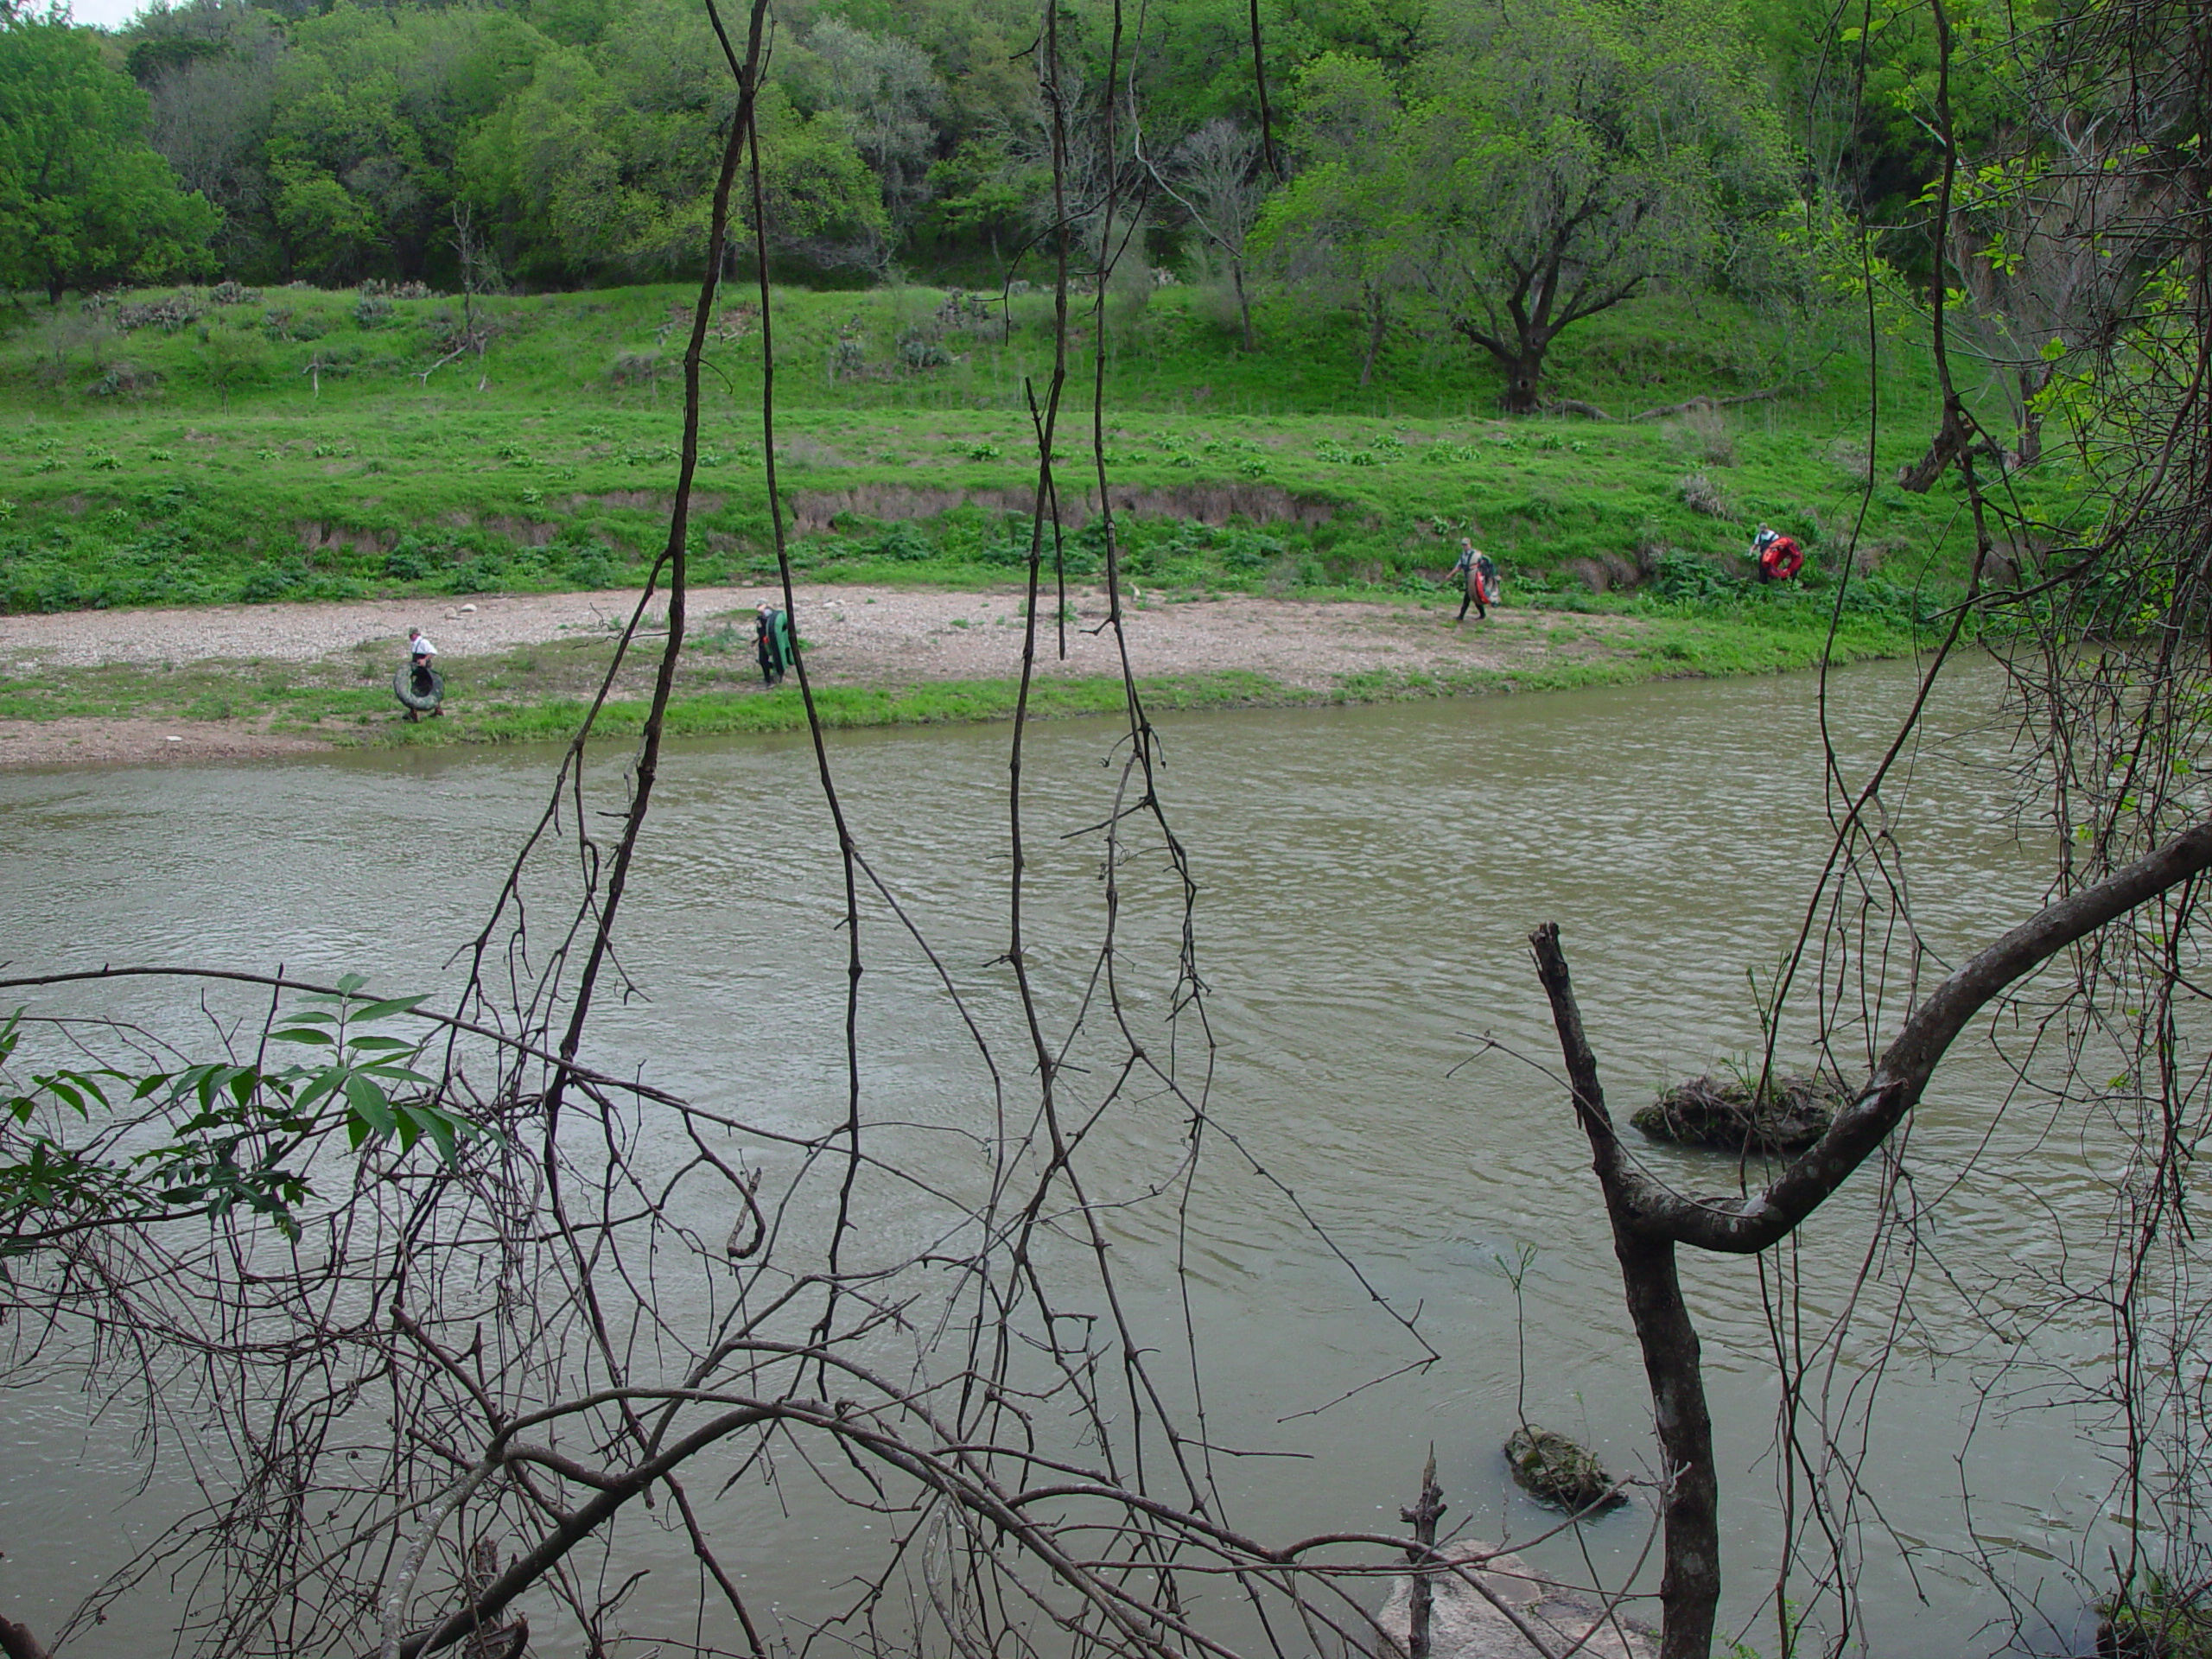
[[[701,0],[190,0],[111,35],[9,7],[0,285],[491,292],[701,259],[737,106]],[[2033,153],[2042,20],[1947,18],[1960,153]],[[1042,279],[1055,102],[1077,270],[1113,250],[1117,281],[1212,283],[1248,347],[1254,285],[1298,283],[1371,343],[1420,325],[1489,354],[1520,407],[1559,330],[1652,283],[1812,303],[1860,276],[1860,226],[1907,288],[1931,274],[1920,4],[1845,27],[1814,0],[1261,0],[1256,60],[1245,0],[1057,20],[1053,100],[1029,0],[776,4],[779,274]]]

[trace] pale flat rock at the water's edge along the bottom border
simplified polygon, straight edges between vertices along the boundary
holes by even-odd
[[[1473,1588],[1460,1573],[1438,1573],[1429,1579],[1429,1655],[1431,1659],[1537,1659],[1528,1637],[1498,1610],[1513,1608],[1553,1652],[1575,1650],[1575,1659],[1652,1659],[1657,1639],[1626,1615],[1608,1615],[1588,1590],[1575,1590],[1537,1575],[1517,1555],[1504,1555],[1486,1544],[1460,1544],[1453,1564],[1482,1584]],[[1491,1599],[1495,1597],[1495,1601]],[[1413,1582],[1391,1579],[1389,1601],[1376,1615],[1383,1635],[1402,1655],[1413,1628]],[[1577,1646],[1579,1644],[1579,1646]]]

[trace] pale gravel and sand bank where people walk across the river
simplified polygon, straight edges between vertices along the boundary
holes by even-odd
[[[737,628],[774,597],[770,586],[701,588],[690,595],[695,635]],[[1040,630],[1040,675],[1115,675],[1119,653],[1099,624],[1095,588],[1071,591],[1075,617]],[[1022,595],[883,586],[803,586],[799,626],[821,684],[885,686],[945,679],[1013,679],[1022,668]],[[473,599],[363,599],[343,604],[206,606],[177,611],[64,611],[0,615],[0,677],[104,664],[305,664],[389,650],[409,626],[436,639],[449,666],[515,646],[604,635],[637,597],[608,593],[480,595]],[[655,613],[664,613],[655,602]],[[1584,617],[1599,624],[1604,619]],[[1467,675],[1526,661],[1526,617],[1504,611],[1458,628],[1451,608],[1303,602],[1232,595],[1197,602],[1137,597],[1126,611],[1137,675],[1256,672],[1294,690],[1325,692],[1360,672]],[[1062,637],[1066,657],[1062,659]],[[327,748],[312,737],[263,732],[246,721],[51,719],[0,721],[4,765],[115,765],[296,754]]]

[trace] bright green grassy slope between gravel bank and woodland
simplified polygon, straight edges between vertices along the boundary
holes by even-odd
[[[305,288],[131,294],[4,314],[0,606],[195,604],[608,586],[666,535],[688,325],[681,288],[480,303],[491,341],[440,365],[456,299]],[[1234,349],[1210,294],[1113,301],[1108,467],[1130,577],[1166,591],[1405,591],[1460,526],[1520,595],[1586,602],[1657,571],[1712,599],[1703,555],[1759,520],[1834,566],[1869,465],[1867,363],[1719,301],[1621,307],[1557,347],[1553,392],[1615,416],[1787,380],[1774,400],[1663,420],[1504,422],[1495,376],[1405,336],[1358,387],[1349,319],[1279,303]],[[1015,580],[1033,484],[1026,389],[1051,301],[940,290],[779,294],[779,453],[814,580]],[[695,553],[706,580],[774,568],[759,462],[761,327],[741,294],[710,354]],[[1807,363],[1814,367],[1807,369]],[[1062,504],[1088,518],[1088,352],[1062,425]],[[1874,478],[1931,429],[1924,365],[1876,365]],[[1876,484],[1860,566],[1960,571],[1949,484]],[[1073,529],[1075,577],[1097,568]],[[1876,584],[1876,604],[1887,604]]]

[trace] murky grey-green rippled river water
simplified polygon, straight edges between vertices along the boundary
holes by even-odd
[[[1911,672],[1874,666],[1834,684],[1838,750],[1863,765],[1902,712]],[[1531,1418],[1586,1433],[1615,1469],[1650,1467],[1650,1407],[1586,1148],[1562,1091],[1511,1057],[1557,1064],[1524,938],[1535,922],[1562,925],[1617,1113],[1752,1053],[1747,975],[1770,975],[1787,951],[1827,845],[1814,690],[1809,677],[1679,681],[1168,721],[1164,790],[1201,889],[1199,960],[1221,1044],[1212,1117],[1380,1296],[1420,1310],[1440,1354],[1340,1398],[1418,1349],[1279,1188],[1217,1152],[1197,1192],[1190,1281],[1212,1429],[1305,1453],[1294,1467],[1237,1464],[1245,1531],[1383,1524],[1411,1500],[1431,1444],[1451,1522],[1482,1537],[1544,1528],[1500,1455],[1517,1394]],[[1891,796],[1938,956],[2028,911],[2042,889],[2033,832],[2022,838],[2011,812],[1991,692],[1993,675],[1969,672],[1938,701]],[[1079,980],[1097,909],[1097,843],[1062,836],[1102,816],[1113,741],[1102,721],[1031,732],[1044,918],[1033,960],[1053,995]],[[1004,947],[1004,728],[834,737],[863,845],[984,1004],[1004,991],[991,964]],[[374,971],[380,989],[438,984],[551,763],[535,750],[363,752],[0,776],[11,971],[281,962],[301,975]],[[1146,880],[1155,898],[1166,891],[1157,869],[1130,874],[1133,887]],[[644,1062],[655,1082],[754,1121],[821,1128],[843,1077],[838,911],[810,748],[677,745],[622,940],[644,995],[608,1009],[593,1057],[611,1071]],[[1133,958],[1159,936],[1137,931]],[[878,918],[865,938],[883,958],[867,980],[872,1110],[953,1110],[945,1084],[964,1048],[942,998]],[[1139,1018],[1164,1013],[1164,971],[1133,967],[1130,987]],[[177,1024],[175,987],[117,987],[100,1006]],[[1478,1055],[1484,1037],[1502,1048]],[[1785,1060],[1803,1062],[1803,1037],[1794,1020]],[[1984,1566],[2035,1586],[2053,1559],[2101,1553],[2095,1447],[2064,1411],[2011,1409],[2033,1405],[2037,1387],[2004,1385],[2006,1409],[1991,1409],[1995,1349],[1953,1287],[2053,1252],[2053,1217],[2088,1225],[2101,1206],[2084,1144],[2042,1133],[2017,1106],[1997,1113],[2002,1093],[1982,1037],[1940,1073],[1911,1141],[1924,1190],[1955,1181],[1931,1245],[1940,1261],[1920,1270],[1913,1318],[1891,1323],[1893,1298],[1869,1296],[1843,1345],[1838,1398],[1885,1367],[1860,1473],[1871,1652],[1993,1650],[2002,1632],[1986,1621],[2002,1604]],[[1117,1135],[1093,1152],[1108,1166],[1172,1152],[1177,1126],[1155,1115]],[[1652,1159],[1717,1179],[1708,1159]],[[1834,1305],[1865,1252],[1863,1186],[1805,1232],[1814,1312]],[[1124,1270],[1161,1292],[1172,1223],[1133,1210],[1115,1225]],[[1500,1259],[1522,1245],[1535,1256],[1517,1318]],[[1752,1624],[1781,1515],[1759,1274],[1745,1261],[1694,1261],[1688,1281],[1721,1444],[1723,1624],[1750,1624],[1752,1644],[1772,1652],[1772,1624]],[[2037,1340],[2059,1367],[2095,1349],[2090,1332]],[[53,1628],[186,1486],[166,1464],[148,1475],[122,1427],[88,1422],[84,1402],[53,1385],[4,1398],[0,1418],[11,1447],[0,1610]],[[1628,1568],[1646,1513],[1586,1528],[1599,1573]],[[836,1524],[856,1522],[810,1515],[805,1542]],[[761,1526],[737,1564],[761,1595],[805,1608],[838,1573],[792,1544]],[[1540,1559],[1579,1566],[1566,1540]],[[2079,1593],[2051,1577],[2048,1606],[2075,1635]],[[150,1588],[126,1597],[69,1652],[148,1650],[168,1630],[161,1608]]]

